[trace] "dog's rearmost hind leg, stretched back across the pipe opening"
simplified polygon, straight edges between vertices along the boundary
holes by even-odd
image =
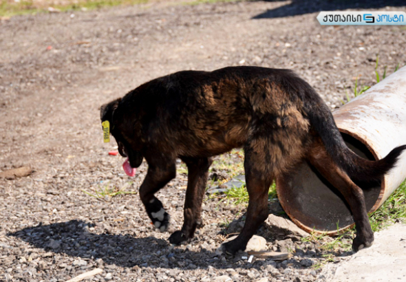
[[[317,144],[312,147],[310,163],[343,194],[345,201],[350,205],[356,224],[356,237],[352,242],[352,249],[357,251],[371,246],[374,242],[374,232],[368,219],[362,189],[356,186],[347,173],[332,161],[321,142],[314,143]]]

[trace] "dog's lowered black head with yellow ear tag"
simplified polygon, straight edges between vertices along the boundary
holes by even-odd
[[[121,98],[113,100],[103,106],[100,107],[100,119],[101,122],[108,120],[110,123],[110,133],[116,139],[118,152],[122,157],[128,158],[129,164],[132,168],[138,168],[138,166],[142,163],[142,154],[140,151],[136,151],[131,146],[131,140],[129,138],[125,138],[125,134],[122,132],[122,114],[120,114],[120,102]],[[130,124],[131,122],[127,122]],[[127,162],[127,161],[126,161]]]

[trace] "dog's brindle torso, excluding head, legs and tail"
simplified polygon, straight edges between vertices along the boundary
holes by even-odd
[[[141,85],[120,105],[147,129],[149,142],[177,155],[218,155],[257,139],[255,146],[270,147],[279,162],[308,143],[296,80],[287,69],[263,67],[184,71]]]

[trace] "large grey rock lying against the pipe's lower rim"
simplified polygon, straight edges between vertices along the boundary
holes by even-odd
[[[289,219],[277,217],[276,215],[269,215],[264,226],[273,234],[281,237],[286,237],[288,235],[308,237],[310,235],[308,232],[297,227],[296,224]]]

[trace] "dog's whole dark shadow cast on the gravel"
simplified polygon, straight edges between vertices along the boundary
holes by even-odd
[[[139,265],[140,267],[188,269],[188,265],[184,263],[186,260],[199,261],[200,268],[207,268],[209,265],[219,269],[229,266],[222,263],[221,258],[211,250],[201,248],[197,252],[192,250],[183,252],[176,247],[172,250],[169,242],[164,239],[136,237],[133,234],[116,235],[108,232],[97,234],[93,231],[94,226],[75,219],[49,225],[39,224],[8,233],[8,236],[17,237],[45,251],[82,259],[103,259],[104,263],[123,268]],[[173,257],[175,253],[178,259],[169,261],[168,258]],[[301,256],[301,254],[297,255]],[[251,268],[253,265],[247,263],[239,267]]]

